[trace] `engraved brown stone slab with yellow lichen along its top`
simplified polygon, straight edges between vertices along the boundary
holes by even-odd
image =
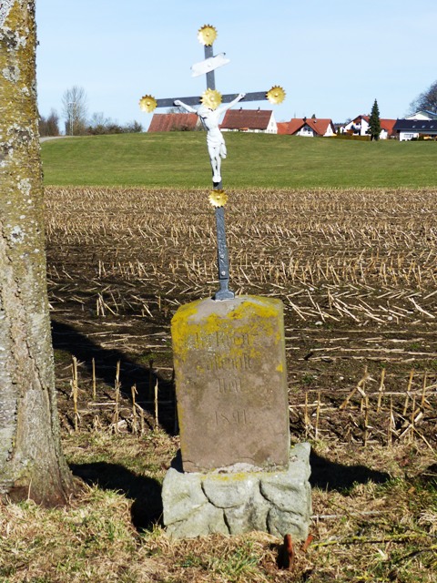
[[[282,303],[193,302],[171,330],[184,471],[288,465]]]

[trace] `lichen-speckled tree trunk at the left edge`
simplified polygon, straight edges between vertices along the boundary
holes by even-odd
[[[46,293],[35,0],[0,4],[0,497],[66,503]]]

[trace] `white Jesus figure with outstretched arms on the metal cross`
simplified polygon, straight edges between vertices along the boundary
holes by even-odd
[[[211,160],[212,181],[215,184],[221,182],[221,159],[226,158],[225,138],[219,129],[219,118],[224,111],[235,106],[246,94],[240,93],[233,101],[227,105],[211,109],[210,107],[200,106],[198,109],[188,106],[186,103],[176,99],[175,106],[183,107],[189,113],[195,113],[200,118],[202,126],[207,130],[207,145],[209,159]]]

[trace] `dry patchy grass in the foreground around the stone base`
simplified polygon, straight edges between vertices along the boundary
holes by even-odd
[[[129,490],[126,481],[125,487],[117,488],[115,471],[103,481],[95,446],[105,448],[107,463],[114,468],[129,467],[134,482],[146,482],[151,476],[147,456],[169,459],[175,443],[160,431],[147,438],[110,432],[66,435],[64,448],[76,474],[77,466],[90,465],[95,465],[96,474],[88,476],[66,508],[49,510],[31,501],[0,506],[2,583],[436,580],[436,489],[424,478],[423,464],[429,461],[417,445],[366,453],[360,446],[349,453],[337,448],[336,455],[345,465],[357,461],[390,465],[391,479],[345,489],[314,486],[314,539],[306,552],[296,545],[291,570],[278,568],[281,541],[265,533],[171,540],[158,524],[137,529],[133,517],[150,504],[146,492],[137,490],[132,495],[135,486]],[[333,455],[331,447],[314,444],[322,456]],[[158,482],[163,475],[162,469],[154,473]]]

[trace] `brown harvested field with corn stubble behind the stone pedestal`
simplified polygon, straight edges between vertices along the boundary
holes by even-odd
[[[284,302],[297,438],[435,446],[436,194],[231,194],[231,288]],[[113,419],[116,388],[118,421],[131,424],[135,385],[154,426],[158,382],[158,422],[177,433],[169,324],[178,305],[217,289],[208,194],[51,188],[46,201],[63,423],[75,424],[74,355],[81,424]]]

